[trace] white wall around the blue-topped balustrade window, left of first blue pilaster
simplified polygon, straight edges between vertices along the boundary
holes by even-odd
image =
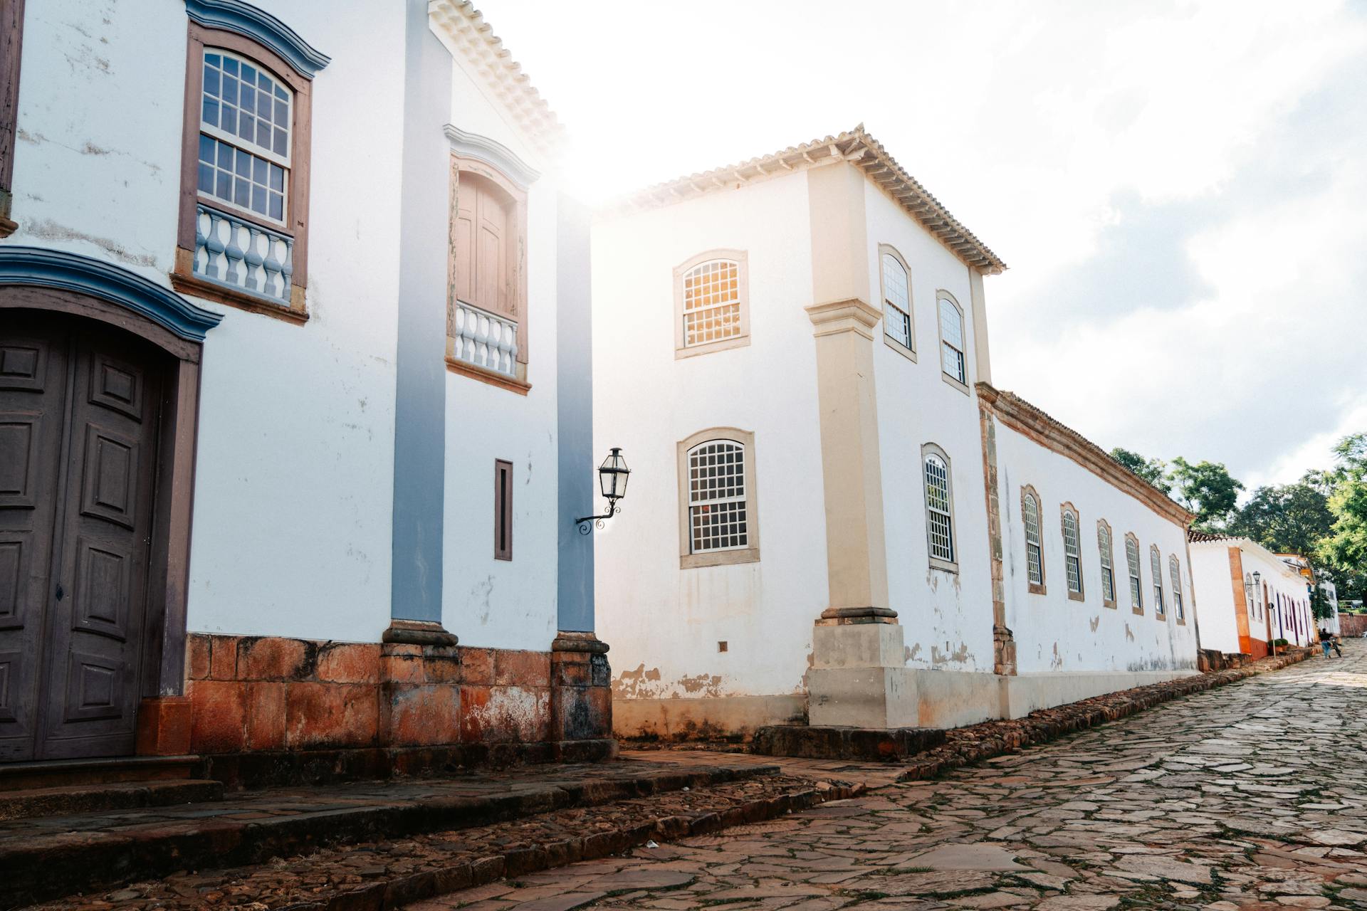
[[[402,135],[403,11],[357,29],[327,0],[257,5],[332,56],[313,87],[310,318],[195,300],[224,317],[204,347],[189,628],[375,641],[390,619],[401,143],[361,142],[357,124]],[[27,4],[7,243],[170,287],[186,30],[179,3]]]

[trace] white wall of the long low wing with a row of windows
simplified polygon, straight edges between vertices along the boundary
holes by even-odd
[[[1196,667],[1196,627],[1192,621],[1191,567],[1187,533],[1139,500],[1124,493],[1072,459],[1046,449],[1029,437],[997,422],[997,466],[1001,486],[1006,626],[1016,636],[1020,673],[1181,671]],[[1040,497],[1040,539],[1046,594],[1031,594],[1027,579],[1025,529],[1021,488]],[[1064,567],[1061,505],[1079,514],[1084,601],[1068,597]],[[1102,605],[1096,520],[1106,519],[1114,537],[1115,608]],[[1132,612],[1125,563],[1125,534],[1139,538],[1144,613]],[[1154,611],[1150,545],[1162,553],[1166,615]],[[1181,561],[1187,621],[1177,621],[1169,555]]]

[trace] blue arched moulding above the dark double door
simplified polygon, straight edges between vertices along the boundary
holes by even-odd
[[[223,320],[122,266],[64,250],[0,247],[0,287],[5,285],[86,294],[146,317],[189,341],[204,341],[205,333]]]

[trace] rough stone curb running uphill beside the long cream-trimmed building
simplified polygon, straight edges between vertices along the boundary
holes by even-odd
[[[1098,724],[1117,721],[1193,692],[1203,692],[1225,686],[1226,683],[1237,683],[1239,680],[1260,673],[1281,671],[1285,667],[1304,661],[1307,657],[1310,657],[1308,650],[1277,656],[1275,658],[1262,658],[1243,668],[1180,677],[1165,683],[1152,683],[1144,687],[1135,687],[1133,690],[1107,692],[1091,699],[1083,699],[1081,702],[1070,702],[1053,709],[1040,709],[1013,721],[984,721],[983,724],[973,724],[966,728],[954,728],[946,732],[947,743],[945,746],[935,747],[915,759],[909,759],[906,770],[897,780],[919,781],[934,779],[938,774],[973,762],[994,759],[1025,747],[1057,740],[1077,731],[1085,731]]]

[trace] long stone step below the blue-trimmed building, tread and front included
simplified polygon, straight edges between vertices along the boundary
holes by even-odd
[[[92,888],[774,776],[641,761],[238,792],[221,802],[0,822],[0,908]]]

